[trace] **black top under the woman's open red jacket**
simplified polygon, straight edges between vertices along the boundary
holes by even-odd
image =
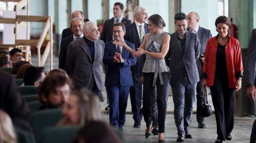
[[[222,46],[218,44],[217,53],[216,53],[215,78],[223,79],[223,80],[228,78],[227,61],[226,61],[226,53],[225,53],[226,45]]]

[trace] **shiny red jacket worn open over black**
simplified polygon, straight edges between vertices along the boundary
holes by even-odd
[[[204,74],[206,73],[208,87],[213,86],[214,82],[217,48],[217,36],[212,37],[207,41],[203,72]],[[228,87],[235,88],[237,78],[239,78],[239,75],[243,75],[244,71],[239,41],[234,37],[229,36],[225,53],[228,72]]]

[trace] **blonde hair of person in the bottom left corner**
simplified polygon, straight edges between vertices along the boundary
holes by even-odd
[[[8,114],[0,110],[0,143],[17,142],[12,120]]]

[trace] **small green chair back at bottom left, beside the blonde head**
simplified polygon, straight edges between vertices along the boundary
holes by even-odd
[[[24,131],[19,128],[15,128],[16,136],[17,136],[17,142],[19,143],[34,143],[34,137],[33,134],[30,132]]]

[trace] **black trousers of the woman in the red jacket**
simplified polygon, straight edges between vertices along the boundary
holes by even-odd
[[[236,91],[228,87],[227,78],[215,78],[214,85],[210,89],[217,123],[217,139],[225,140],[234,127],[234,96]]]

